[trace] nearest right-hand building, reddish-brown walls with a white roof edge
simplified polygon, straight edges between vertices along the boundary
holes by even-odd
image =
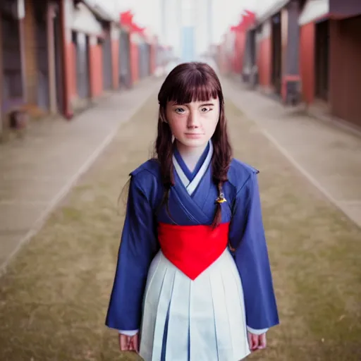
[[[300,1],[302,99],[361,127],[361,2]]]

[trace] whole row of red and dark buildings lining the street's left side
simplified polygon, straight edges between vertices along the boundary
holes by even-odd
[[[147,29],[94,1],[1,0],[0,135],[17,118],[72,118],[151,75],[159,49]]]

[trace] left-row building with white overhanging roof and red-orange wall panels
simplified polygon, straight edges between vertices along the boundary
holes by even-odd
[[[88,1],[66,3],[66,99],[70,112],[119,87],[118,18]]]

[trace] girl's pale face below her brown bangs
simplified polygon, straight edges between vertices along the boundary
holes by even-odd
[[[219,121],[219,99],[178,105],[168,102],[166,119],[171,131],[185,147],[204,147]]]

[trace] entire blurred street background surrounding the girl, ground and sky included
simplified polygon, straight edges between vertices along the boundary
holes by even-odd
[[[250,359],[361,360],[361,0],[0,0],[0,361],[137,360],[117,199],[185,61],[260,170],[281,325]]]

